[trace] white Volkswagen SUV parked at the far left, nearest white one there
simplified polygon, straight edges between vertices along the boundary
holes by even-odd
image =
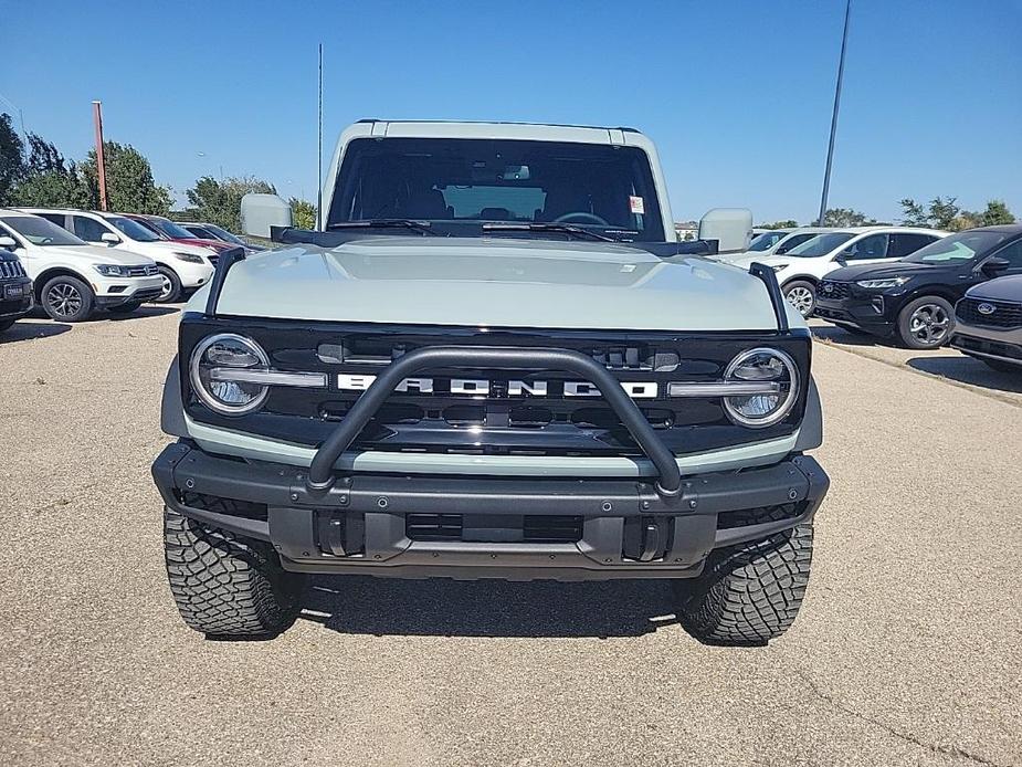
[[[89,245],[38,216],[0,209],[0,248],[18,255],[35,300],[61,322],[81,322],[97,308],[128,314],[162,290],[151,259]]]

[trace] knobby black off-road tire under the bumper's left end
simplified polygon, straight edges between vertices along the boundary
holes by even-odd
[[[268,544],[165,508],[164,549],[181,618],[207,637],[275,637],[302,609],[304,576],[284,570]]]

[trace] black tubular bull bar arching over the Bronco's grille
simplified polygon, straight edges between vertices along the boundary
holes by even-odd
[[[501,370],[559,370],[584,377],[613,408],[656,467],[656,492],[665,497],[681,493],[682,475],[674,453],[663,443],[639,406],[607,368],[591,357],[570,349],[432,346],[415,349],[392,361],[356,400],[345,419],[330,434],[309,464],[306,486],[313,492],[328,491],[335,482],[334,466],[383,402],[409,376],[434,368],[491,368]]]

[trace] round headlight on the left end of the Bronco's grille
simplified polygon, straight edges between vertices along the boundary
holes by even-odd
[[[270,358],[251,338],[221,333],[203,338],[191,354],[189,377],[199,399],[224,416],[257,409],[270,388],[245,380],[243,370],[267,370]]]

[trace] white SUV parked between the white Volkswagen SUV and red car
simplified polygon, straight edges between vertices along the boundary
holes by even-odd
[[[125,216],[44,208],[22,210],[63,227],[85,242],[141,253],[152,259],[162,277],[162,291],[156,298],[157,303],[180,301],[187,291],[201,287],[213,276],[213,264],[210,261],[213,251],[164,240]]]

